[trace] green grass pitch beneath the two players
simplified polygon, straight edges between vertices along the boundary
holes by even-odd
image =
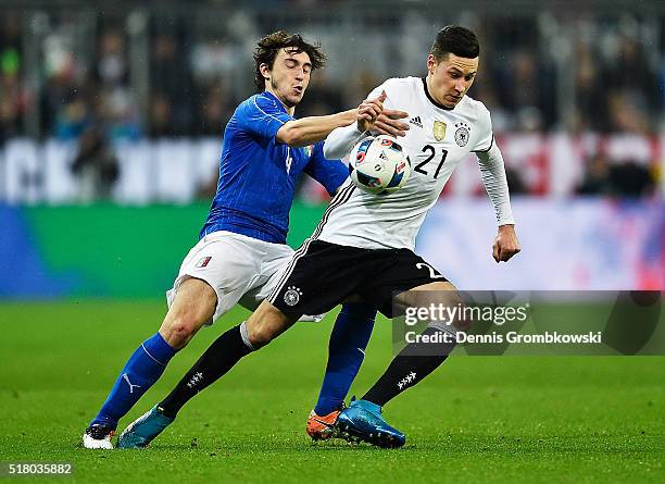
[[[451,358],[386,408],[406,433],[404,448],[312,445],[304,423],[330,318],[299,323],[242,361],[151,448],[83,449],[87,423],[163,310],[159,301],[0,305],[0,461],[73,462],[74,476],[63,481],[81,483],[665,482],[663,357]],[[202,330],[121,429],[243,315],[233,311]],[[382,321],[352,393],[390,358]]]

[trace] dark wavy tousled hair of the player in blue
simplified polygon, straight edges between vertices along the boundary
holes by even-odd
[[[259,92],[265,89],[265,78],[261,74],[261,64],[273,69],[275,58],[280,49],[292,49],[294,53],[304,52],[310,55],[312,71],[321,69],[326,63],[326,55],[321,50],[321,44],[305,42],[300,34],[289,34],[285,30],[274,32],[259,40],[254,50],[254,84]]]

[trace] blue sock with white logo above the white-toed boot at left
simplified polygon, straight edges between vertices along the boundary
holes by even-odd
[[[177,350],[155,333],[129,357],[111,389],[106,401],[90,425],[117,426],[134,405],[156,382]]]

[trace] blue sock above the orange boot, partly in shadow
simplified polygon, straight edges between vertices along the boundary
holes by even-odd
[[[327,415],[341,408],[365,358],[375,318],[376,310],[365,303],[355,302],[342,307],[330,334],[328,365],[318,402],[314,407],[317,415]]]

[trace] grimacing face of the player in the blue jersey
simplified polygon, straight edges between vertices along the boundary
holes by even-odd
[[[265,70],[266,89],[273,92],[287,108],[298,104],[310,84],[312,61],[305,52],[281,49],[277,52],[272,70]]]

